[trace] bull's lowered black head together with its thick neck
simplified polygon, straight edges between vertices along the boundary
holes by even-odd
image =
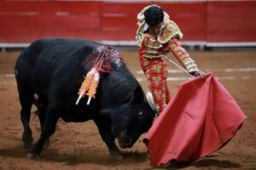
[[[131,147],[142,133],[151,127],[155,110],[143,93],[143,89],[119,57],[108,54],[111,67],[108,77],[102,78],[101,109],[113,136],[122,148]],[[109,123],[109,124],[108,124]]]

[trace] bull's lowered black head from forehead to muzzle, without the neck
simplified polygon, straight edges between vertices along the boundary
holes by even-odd
[[[129,101],[116,108],[118,113],[112,117],[112,133],[122,148],[131,147],[151,127],[156,113],[152,101],[149,95],[148,102],[147,95],[139,86]]]

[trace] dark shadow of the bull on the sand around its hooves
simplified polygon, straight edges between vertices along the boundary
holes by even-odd
[[[13,157],[13,158],[26,158],[26,150],[23,149],[22,145],[16,145],[14,148],[0,149],[0,156],[3,157]],[[147,153],[137,153],[137,152],[125,152],[123,153],[124,159],[115,159],[112,156],[104,153],[68,153],[61,154],[58,150],[44,150],[42,156],[37,156],[34,161],[45,161],[45,162],[64,162],[67,165],[79,165],[85,163],[94,163],[99,165],[108,166],[111,164],[127,164],[134,162],[148,161]]]

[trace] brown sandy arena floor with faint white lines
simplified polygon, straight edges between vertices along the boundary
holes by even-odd
[[[125,63],[148,90],[141,73],[135,50],[119,52]],[[212,71],[232,94],[247,116],[243,127],[234,139],[211,156],[202,158],[182,169],[256,169],[256,50],[242,52],[189,51],[203,71]],[[115,161],[108,154],[107,146],[97,132],[94,122],[58,122],[49,148],[41,157],[26,159],[23,150],[14,65],[19,53],[0,53],[0,170],[76,170],[76,169],[151,169],[147,148],[141,136],[130,150],[123,150],[124,161]],[[174,59],[173,57],[171,57]],[[178,84],[188,77],[169,65],[169,88],[175,93]],[[32,118],[34,116],[32,115]],[[38,139],[38,118],[31,122],[34,139]]]

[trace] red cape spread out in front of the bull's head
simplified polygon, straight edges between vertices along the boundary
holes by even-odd
[[[207,156],[228,142],[245,118],[212,74],[184,82],[145,137],[151,165]]]

